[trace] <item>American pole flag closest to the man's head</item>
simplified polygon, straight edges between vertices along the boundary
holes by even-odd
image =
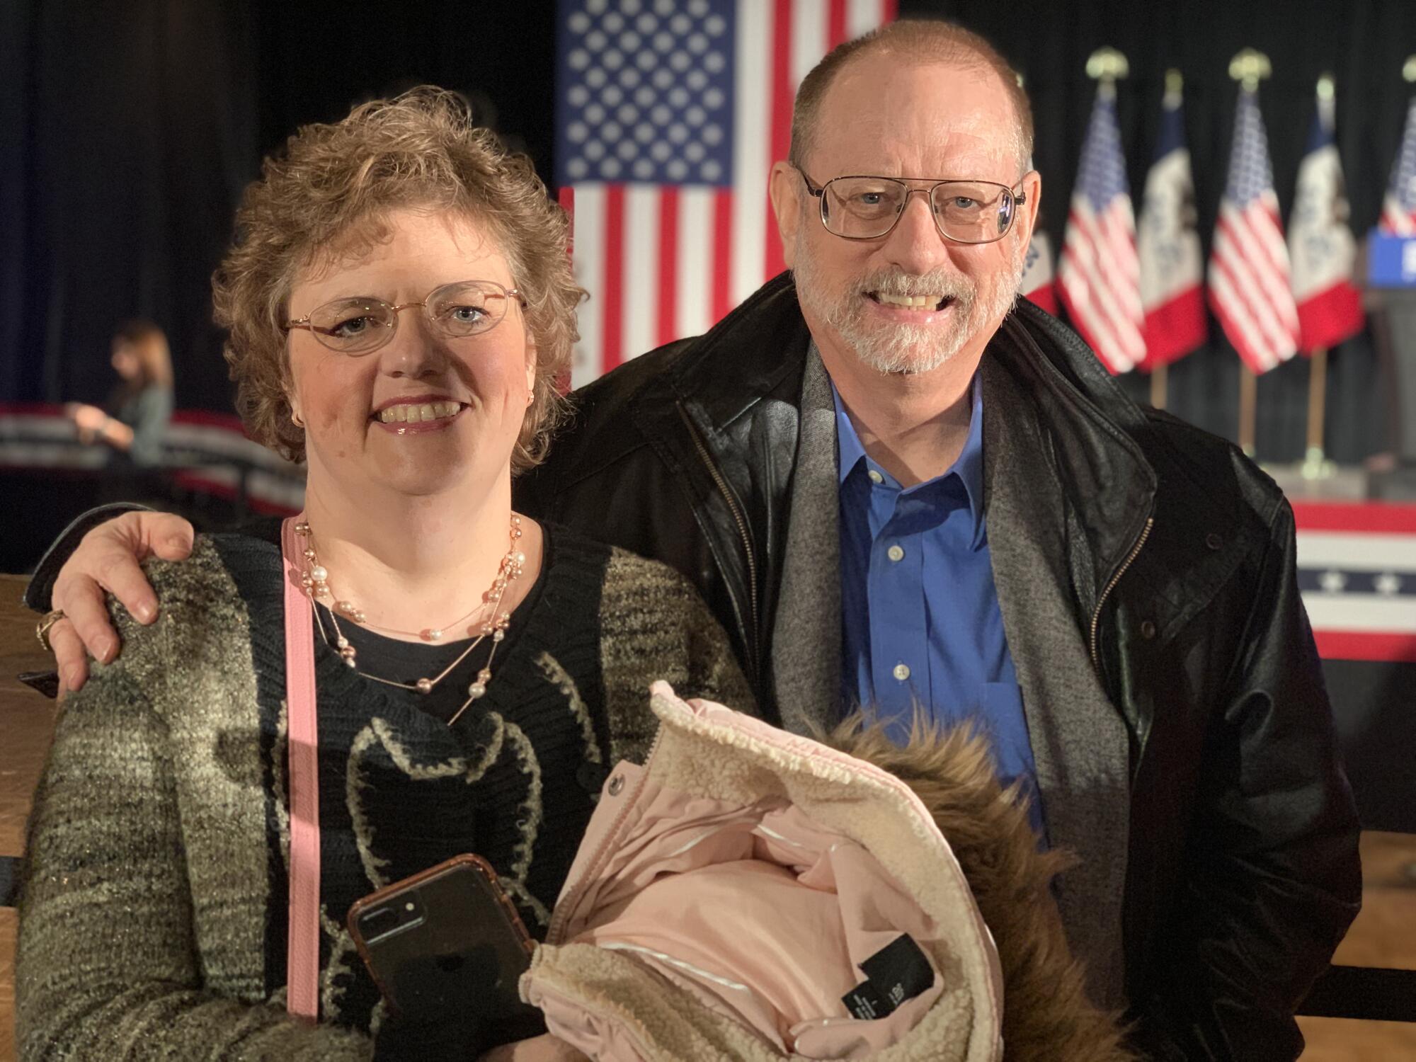
[[[1058,289],[1073,327],[1112,372],[1129,372],[1146,357],[1140,272],[1116,85],[1103,81],[1072,190]]]

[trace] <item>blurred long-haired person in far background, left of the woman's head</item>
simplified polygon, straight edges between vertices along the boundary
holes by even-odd
[[[152,321],[132,320],[113,334],[113,371],[123,382],[109,396],[106,409],[84,402],[65,406],[79,439],[105,443],[132,464],[159,464],[163,432],[173,419],[173,361],[167,337]]]

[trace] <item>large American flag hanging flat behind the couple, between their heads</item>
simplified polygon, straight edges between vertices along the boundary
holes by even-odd
[[[705,331],[782,272],[767,174],[796,88],[895,4],[561,0],[556,183],[590,293],[573,387]]]

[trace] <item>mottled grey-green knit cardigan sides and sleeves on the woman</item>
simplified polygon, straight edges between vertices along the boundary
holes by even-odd
[[[261,545],[262,564],[278,565]],[[374,1054],[377,1014],[368,1028],[287,1017],[283,961],[268,954],[272,882],[285,879],[270,864],[289,857],[285,712],[272,750],[258,692],[269,700],[283,688],[283,671],[272,687],[259,671],[273,668],[253,664],[255,606],[231,555],[198,537],[188,561],[150,564],[157,622],[139,626],[113,606],[123,653],[96,666],[64,705],[35,794],[20,901],[23,1062],[365,1062]],[[554,667],[544,681],[566,712],[598,716],[607,765],[646,750],[651,680],[750,707],[722,632],[684,578],[607,548],[598,571],[603,704],[588,709]],[[542,810],[554,818],[554,807]],[[344,932],[326,922],[326,935]],[[330,961],[357,963],[347,942],[327,952]]]

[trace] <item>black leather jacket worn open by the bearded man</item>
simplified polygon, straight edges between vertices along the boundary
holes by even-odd
[[[1021,302],[1004,329],[1034,353],[1008,371],[1089,541],[1061,571],[1131,738],[1134,1044],[1296,1058],[1291,1014],[1358,910],[1361,869],[1291,510],[1229,443],[1131,404],[1055,319]],[[783,275],[708,334],[578,391],[571,429],[517,486],[524,511],[692,578],[769,718],[807,343]],[[1109,483],[1097,455],[1147,474]]]

